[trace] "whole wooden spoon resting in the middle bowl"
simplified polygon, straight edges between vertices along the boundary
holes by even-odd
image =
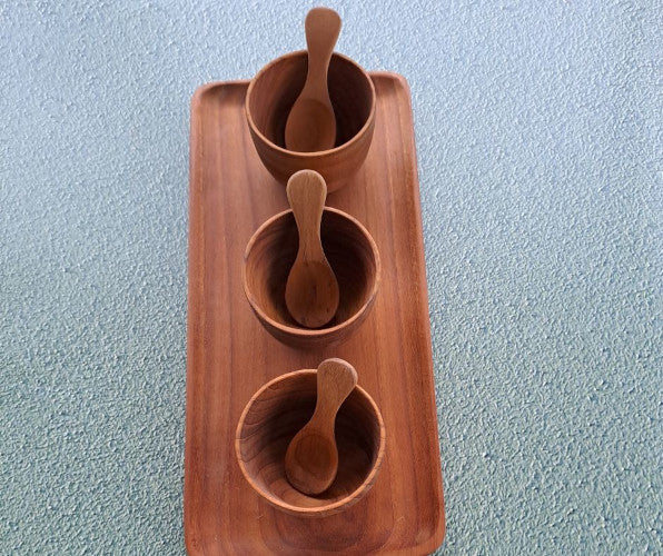
[[[286,192],[299,231],[299,250],[286,282],[286,306],[301,326],[318,328],[334,318],[339,297],[320,240],[327,186],[318,172],[300,170],[288,180]]]

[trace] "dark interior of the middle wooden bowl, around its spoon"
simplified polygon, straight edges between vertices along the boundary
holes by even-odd
[[[370,239],[352,219],[329,209],[323,212],[320,238],[336,275],[339,304],[336,315],[321,330],[345,322],[375,295],[377,261]],[[245,279],[253,301],[274,321],[301,327],[286,307],[286,282],[297,257],[299,237],[291,211],[263,228],[247,254]]]

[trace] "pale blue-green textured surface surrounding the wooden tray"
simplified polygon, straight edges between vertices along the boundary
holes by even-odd
[[[336,2],[416,120],[441,554],[661,554],[661,3]],[[0,553],[182,554],[189,101],[311,2],[0,2]]]

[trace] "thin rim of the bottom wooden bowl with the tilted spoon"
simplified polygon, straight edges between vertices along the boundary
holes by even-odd
[[[377,423],[378,423],[378,427],[379,427],[379,444],[378,444],[378,448],[377,448],[377,455],[375,457],[375,463],[373,464],[370,471],[368,473],[366,478],[362,481],[362,484],[357,488],[355,488],[355,490],[353,490],[349,495],[344,496],[343,498],[340,498],[336,502],[333,502],[330,504],[327,504],[324,506],[316,506],[316,507],[303,507],[303,506],[295,506],[293,504],[288,504],[287,502],[284,502],[281,498],[278,498],[278,497],[274,496],[273,494],[268,493],[267,490],[260,488],[256,484],[256,480],[249,475],[248,469],[246,468],[246,465],[244,463],[244,459],[241,458],[240,434],[241,434],[241,429],[244,428],[246,416],[248,415],[251,406],[263,396],[263,394],[266,390],[271,388],[271,386],[279,384],[279,383],[288,381],[293,378],[298,378],[299,376],[307,376],[307,375],[310,375],[310,376],[317,375],[317,369],[294,370],[291,373],[286,373],[285,375],[279,375],[278,377],[273,378],[268,383],[264,384],[247,401],[246,406],[244,407],[244,410],[241,411],[241,416],[239,417],[239,421],[237,423],[237,428],[235,429],[235,457],[237,459],[237,463],[239,465],[239,468],[241,469],[244,477],[246,478],[248,484],[251,486],[251,488],[258,495],[260,495],[263,498],[265,498],[269,504],[271,504],[273,506],[284,509],[289,514],[294,514],[294,515],[298,515],[298,516],[303,516],[303,517],[304,516],[327,515],[329,513],[334,513],[334,510],[338,510],[342,507],[349,507],[353,504],[355,504],[356,502],[358,502],[368,492],[368,489],[375,481],[377,473],[379,471],[379,469],[382,467],[382,463],[383,463],[383,459],[385,456],[385,445],[386,445],[386,429],[385,429],[385,421],[383,419],[382,413],[380,413],[379,408],[377,407],[377,404],[375,403],[373,397],[359,385],[356,385],[355,389],[359,393],[359,395],[362,396],[364,401],[366,401],[368,404],[373,414],[377,417]]]

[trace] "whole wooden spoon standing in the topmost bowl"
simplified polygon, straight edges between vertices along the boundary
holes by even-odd
[[[308,73],[286,121],[286,147],[314,152],[333,148],[336,140],[327,70],[340,32],[340,17],[328,8],[314,8],[306,16],[305,27]]]

